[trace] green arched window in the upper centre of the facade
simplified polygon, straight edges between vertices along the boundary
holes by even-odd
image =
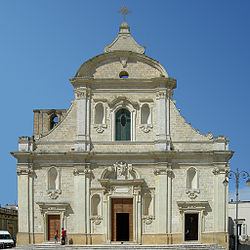
[[[131,140],[131,118],[130,112],[127,109],[120,109],[116,113],[116,133],[115,139],[117,141]]]

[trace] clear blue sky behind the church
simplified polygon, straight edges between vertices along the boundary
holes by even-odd
[[[19,136],[33,109],[69,108],[68,81],[116,37],[120,0],[0,0],[0,204],[16,198]],[[177,79],[174,99],[202,133],[230,139],[231,168],[250,172],[250,1],[127,0],[127,22],[146,55]],[[250,200],[242,181],[240,199]],[[233,192],[234,184],[230,184]]]

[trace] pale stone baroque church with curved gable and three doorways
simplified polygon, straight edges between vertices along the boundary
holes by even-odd
[[[124,21],[70,79],[69,109],[35,109],[18,140],[19,245],[228,246],[228,138],[201,134],[173,100],[176,80]]]

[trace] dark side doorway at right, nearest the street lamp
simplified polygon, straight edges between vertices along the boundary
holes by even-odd
[[[185,214],[185,241],[198,240],[198,214]]]

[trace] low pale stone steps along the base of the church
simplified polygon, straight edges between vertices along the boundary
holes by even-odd
[[[34,244],[34,245],[22,245],[16,247],[16,249],[22,250],[36,250],[36,249],[68,249],[68,250],[225,250],[225,248],[216,244],[174,244],[174,245],[135,245],[135,244],[109,244],[109,245],[60,245],[55,243],[44,243],[44,244]]]

